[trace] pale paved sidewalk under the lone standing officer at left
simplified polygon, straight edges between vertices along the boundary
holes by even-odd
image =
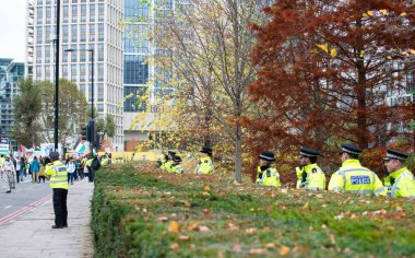
[[[69,187],[69,227],[51,228],[54,206],[51,197],[46,198],[42,204],[0,225],[0,257],[93,257],[90,220],[94,184],[85,178]]]

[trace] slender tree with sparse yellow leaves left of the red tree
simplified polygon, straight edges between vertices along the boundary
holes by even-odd
[[[158,35],[163,37],[156,38],[157,45],[168,50],[156,60],[173,68],[182,94],[177,99],[189,104],[187,110],[193,110],[192,118],[201,121],[204,143],[212,142],[213,120],[232,140],[237,181],[241,181],[242,168],[240,119],[250,107],[247,87],[257,70],[247,55],[256,43],[248,24],[264,19],[261,9],[268,2],[194,0],[190,10],[180,10],[173,22],[162,26]]]

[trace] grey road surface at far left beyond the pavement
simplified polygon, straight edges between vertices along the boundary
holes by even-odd
[[[23,214],[33,207],[49,200],[51,198],[51,189],[49,181],[33,184],[32,178],[27,177],[23,183],[16,183],[16,189],[12,189],[11,194],[5,194],[9,186],[4,180],[0,180],[0,226],[10,219]],[[40,218],[39,218],[40,219]]]

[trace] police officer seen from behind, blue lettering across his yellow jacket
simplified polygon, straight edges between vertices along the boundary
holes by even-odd
[[[360,165],[361,150],[352,144],[342,144],[342,166],[330,178],[329,190],[360,195],[380,195],[384,188],[379,177]]]

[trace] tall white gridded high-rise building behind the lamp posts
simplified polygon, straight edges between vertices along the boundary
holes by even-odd
[[[112,151],[123,151],[123,0],[61,0],[60,78],[78,84],[91,105],[94,49],[94,106],[114,116]],[[56,1],[27,0],[26,74],[55,81]],[[73,51],[64,51],[72,49]]]

